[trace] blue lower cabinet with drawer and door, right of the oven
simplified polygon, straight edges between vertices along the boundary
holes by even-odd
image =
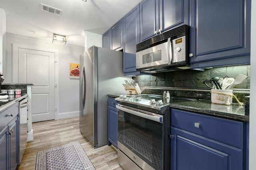
[[[246,123],[171,109],[171,170],[244,170]]]

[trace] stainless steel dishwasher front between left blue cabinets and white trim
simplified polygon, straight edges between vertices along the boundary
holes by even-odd
[[[22,160],[22,156],[25,152],[27,145],[27,134],[28,134],[28,99],[24,98],[19,101],[19,113],[20,113],[20,142],[19,142],[19,156],[18,156],[18,165]]]

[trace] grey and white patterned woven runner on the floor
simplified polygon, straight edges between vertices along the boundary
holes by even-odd
[[[36,170],[95,170],[76,141],[37,152]]]

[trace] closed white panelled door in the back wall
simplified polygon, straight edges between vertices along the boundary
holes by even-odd
[[[55,53],[18,48],[18,83],[32,86],[32,122],[54,120]]]

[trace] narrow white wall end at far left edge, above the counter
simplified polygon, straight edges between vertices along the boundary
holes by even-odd
[[[0,8],[0,72],[3,71],[3,60],[5,56],[5,38],[6,37],[6,14]]]

